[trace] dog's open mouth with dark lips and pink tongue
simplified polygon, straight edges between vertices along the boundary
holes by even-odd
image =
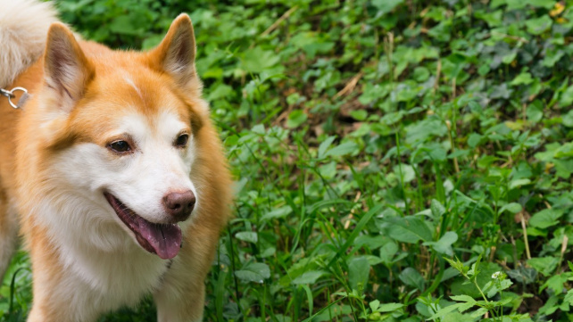
[[[137,243],[147,252],[157,254],[163,260],[175,257],[181,248],[181,228],[177,224],[156,224],[150,222],[135,211],[130,210],[115,196],[104,193],[115,213],[136,235]]]

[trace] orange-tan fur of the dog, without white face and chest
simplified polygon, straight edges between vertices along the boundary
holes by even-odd
[[[0,0],[0,4],[4,3],[12,2]],[[53,17],[49,8],[45,6],[44,9],[49,17]],[[0,39],[5,37],[3,24],[0,11]],[[201,98],[201,83],[195,68],[187,70],[189,74],[175,75],[169,70],[165,72],[166,67],[162,64],[168,55],[166,51],[170,41],[177,37],[179,28],[186,27],[185,24],[190,24],[187,15],[179,16],[162,45],[143,54],[115,52],[86,41],[76,44],[71,31],[62,24],[54,24],[50,29],[48,46],[71,42],[68,45],[74,50],[67,54],[80,64],[79,74],[73,75],[77,78],[73,86],[57,92],[53,88],[57,87],[57,79],[46,76],[44,80],[44,70],[54,74],[54,69],[58,68],[57,61],[62,59],[55,52],[55,56],[46,54],[34,62],[9,84],[8,87],[26,87],[33,95],[23,111],[13,110],[0,96],[0,246],[2,241],[10,246],[0,248],[0,269],[3,268],[2,261],[5,266],[13,249],[13,233],[17,229],[16,220],[12,217],[14,211],[10,211],[13,208],[21,215],[21,231],[32,260],[34,303],[29,321],[72,321],[79,318],[93,321],[102,313],[70,305],[79,285],[65,282],[71,274],[70,268],[62,264],[61,258],[65,254],[59,251],[60,246],[42,221],[42,210],[37,208],[37,199],[46,195],[53,195],[54,209],[65,206],[57,203],[60,194],[58,186],[54,186],[51,169],[57,167],[62,153],[77,144],[97,144],[105,148],[110,142],[108,133],[122,115],[136,112],[145,116],[149,124],[154,124],[158,113],[165,109],[179,115],[180,120],[186,120],[193,131],[197,158],[191,177],[201,186],[199,200],[202,203],[193,223],[183,231],[183,248],[172,260],[170,268],[165,268],[158,285],[154,286],[154,299],[159,321],[201,320],[203,281],[211,267],[220,230],[228,219],[231,179],[220,138]],[[36,24],[30,28],[34,29],[32,33],[45,30]],[[193,37],[192,29],[190,36]],[[29,47],[20,46],[14,50],[23,51],[17,54],[21,66],[37,56],[38,46],[42,43],[38,40],[30,43]],[[195,43],[193,52],[195,54]],[[6,60],[14,59],[11,54],[0,53],[0,70],[9,64]],[[137,87],[126,84],[122,73],[132,76]],[[13,74],[13,70],[4,74],[0,72],[0,84],[3,78],[15,77]],[[64,111],[52,110],[53,106],[59,105]],[[125,108],[119,109],[118,106]],[[104,227],[102,231],[105,232]],[[126,247],[135,250],[136,246],[129,244]],[[110,254],[114,256],[117,253]],[[108,256],[105,252],[95,255]],[[121,262],[124,259],[113,260]],[[156,259],[150,254],[142,254],[141,260]]]

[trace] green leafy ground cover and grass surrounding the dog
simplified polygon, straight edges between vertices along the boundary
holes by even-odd
[[[205,320],[573,318],[573,1],[57,4],[121,48],[194,21],[237,178]],[[25,252],[0,294],[23,320]]]

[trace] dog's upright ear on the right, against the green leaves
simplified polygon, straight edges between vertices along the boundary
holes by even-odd
[[[167,72],[179,86],[187,87],[191,81],[198,80],[195,73],[195,32],[187,14],[179,14],[162,43],[149,55],[154,69]]]

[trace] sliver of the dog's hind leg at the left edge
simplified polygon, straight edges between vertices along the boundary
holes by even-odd
[[[16,249],[18,219],[5,194],[0,194],[0,281]]]

